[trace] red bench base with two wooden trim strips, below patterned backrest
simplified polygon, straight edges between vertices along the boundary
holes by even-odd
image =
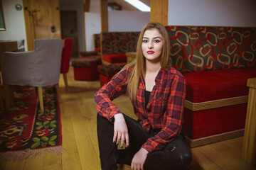
[[[191,147],[244,133],[249,89],[256,68],[183,73],[186,79],[185,131]]]

